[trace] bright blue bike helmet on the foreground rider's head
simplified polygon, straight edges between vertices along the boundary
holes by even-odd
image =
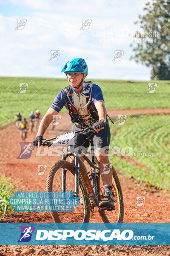
[[[63,67],[62,71],[65,74],[67,73],[83,73],[88,75],[88,65],[82,58],[74,58],[71,61],[68,61]]]

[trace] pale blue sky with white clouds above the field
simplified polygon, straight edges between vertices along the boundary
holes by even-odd
[[[0,76],[64,78],[65,63],[84,58],[88,80],[150,80],[150,68],[129,60],[134,22],[147,2],[0,0]],[[51,59],[51,51],[58,56]],[[122,54],[116,61],[114,51]]]

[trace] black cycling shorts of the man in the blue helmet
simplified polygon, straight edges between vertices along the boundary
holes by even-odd
[[[77,128],[73,125],[72,131],[79,131],[80,128]],[[94,149],[106,149],[109,150],[109,144],[111,140],[111,131],[109,127],[109,123],[107,120],[107,124],[105,129],[100,130],[97,132],[85,132],[83,134],[79,134],[76,137],[74,137],[74,147],[79,147],[84,151],[85,153],[88,150],[88,147],[90,145],[89,139],[93,140],[94,143]]]

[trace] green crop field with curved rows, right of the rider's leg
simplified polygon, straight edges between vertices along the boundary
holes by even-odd
[[[170,189],[170,116],[127,117],[124,125],[110,125],[111,145],[133,148],[129,157],[143,165],[141,168],[118,157],[110,157],[113,166],[123,175]],[[134,152],[138,156],[134,156]],[[145,154],[139,154],[139,153]],[[153,156],[148,153],[153,153]],[[128,151],[126,151],[126,154]],[[136,154],[135,153],[135,154]]]

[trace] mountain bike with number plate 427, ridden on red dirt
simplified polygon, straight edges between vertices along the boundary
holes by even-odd
[[[46,191],[72,191],[74,196],[79,197],[79,205],[74,207],[72,212],[51,212],[51,216],[53,221],[57,223],[88,223],[90,218],[91,220],[94,218],[94,222],[96,222],[95,217],[97,215],[105,223],[123,222],[124,207],[122,189],[114,167],[112,166],[112,186],[114,189],[114,205],[116,209],[100,209],[99,202],[104,197],[104,188],[99,167],[95,163],[93,140],[90,140],[91,160],[83,154],[81,149],[74,147],[74,137],[87,131],[94,132],[92,127],[88,127],[42,141],[42,145],[47,145],[48,147],[51,145],[68,145],[67,153],[62,154],[62,160],[54,163],[48,172]],[[51,140],[54,141],[51,142]],[[73,156],[75,159],[74,163],[66,161],[67,157]],[[80,156],[86,161],[87,169]]]

